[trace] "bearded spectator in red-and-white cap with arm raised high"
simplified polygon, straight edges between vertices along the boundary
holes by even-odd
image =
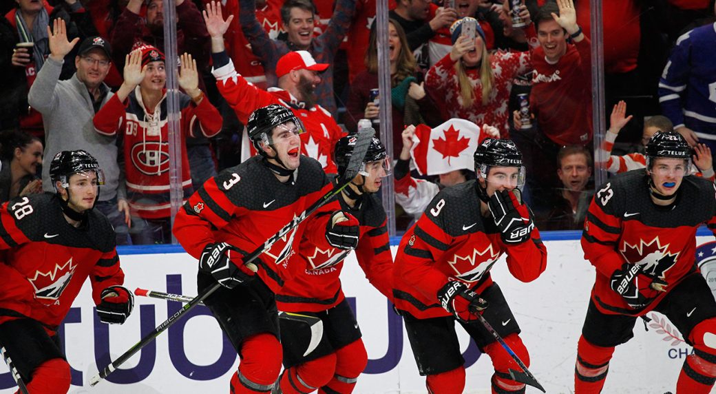
[[[251,112],[269,104],[290,107],[304,123],[304,130],[307,132],[300,136],[301,153],[318,160],[326,173],[336,173],[338,169],[332,159],[332,153],[336,142],[344,133],[332,115],[316,104],[314,93],[321,82],[322,75],[319,73],[324,72],[329,64],[316,63],[306,51],[289,52],[276,64],[279,88],[272,88],[269,92],[261,90],[236,73],[233,62],[226,54],[222,37],[233,16],[228,16],[225,21],[221,16],[221,6],[212,1],[204,12],[204,19],[211,34],[216,86],[236,112],[238,120],[246,124]]]

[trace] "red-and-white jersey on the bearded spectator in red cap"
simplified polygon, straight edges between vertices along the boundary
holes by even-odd
[[[243,124],[246,124],[251,112],[266,105],[279,104],[291,108],[306,127],[307,133],[301,135],[301,153],[318,160],[326,173],[338,172],[336,163],[332,159],[333,148],[344,133],[324,107],[314,105],[306,108],[304,102],[296,100],[296,97],[286,90],[276,87],[269,91],[261,90],[238,75],[231,61],[223,67],[213,69],[212,72],[216,77],[219,92]]]

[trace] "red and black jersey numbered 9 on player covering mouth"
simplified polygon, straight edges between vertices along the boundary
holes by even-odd
[[[398,309],[421,319],[449,316],[437,291],[458,280],[479,294],[493,283],[490,269],[503,254],[511,274],[522,282],[544,272],[547,249],[537,228],[522,244],[503,244],[493,218],[480,213],[475,182],[442,189],[403,236],[394,269]]]

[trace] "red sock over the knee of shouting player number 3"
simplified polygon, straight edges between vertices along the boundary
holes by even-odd
[[[253,335],[241,344],[241,355],[236,379],[232,379],[232,387],[238,389],[236,393],[271,391],[281,372],[283,351],[279,340],[266,333]],[[239,385],[234,385],[234,381]]]

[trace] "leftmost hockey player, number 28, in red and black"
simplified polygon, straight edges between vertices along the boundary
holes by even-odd
[[[125,322],[132,293],[115,250],[115,231],[94,206],[102,171],[84,150],[64,150],[49,175],[56,194],[14,198],[0,208],[0,344],[32,394],[69,391],[69,364],[57,329],[85,279],[97,314]]]

